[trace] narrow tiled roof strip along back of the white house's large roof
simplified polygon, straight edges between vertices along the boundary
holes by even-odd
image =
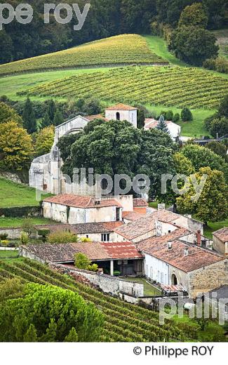
[[[145,251],[147,253],[149,253],[150,248],[155,246],[159,246],[159,244],[163,244],[163,243],[167,243],[168,241],[174,241],[175,239],[180,239],[181,237],[186,236],[187,234],[190,234],[191,232],[189,232],[189,230],[187,230],[186,228],[180,228],[178,227],[177,230],[168,233],[164,236],[160,236],[160,237],[151,237],[149,239],[144,239],[143,241],[138,242],[138,244],[136,244],[137,248],[140,251]]]

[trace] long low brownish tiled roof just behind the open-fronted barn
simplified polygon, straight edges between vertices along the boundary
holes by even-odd
[[[47,229],[51,232],[56,230],[65,231],[69,230],[75,234],[87,234],[87,233],[109,233],[114,232],[117,227],[123,225],[123,222],[106,222],[106,223],[81,223],[77,225],[36,225],[36,230]]]

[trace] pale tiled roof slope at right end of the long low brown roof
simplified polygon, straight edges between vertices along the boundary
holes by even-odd
[[[128,225],[123,225],[115,230],[116,233],[121,234],[121,236],[125,237],[126,239],[135,239],[142,234],[150,232],[156,228],[156,220],[149,217],[143,217],[138,220],[134,220]]]

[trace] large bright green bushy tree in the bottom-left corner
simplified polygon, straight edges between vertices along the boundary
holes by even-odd
[[[23,342],[25,336],[34,338],[36,331],[37,342],[47,337],[51,342],[63,342],[75,328],[79,342],[93,342],[100,338],[103,323],[102,313],[78,293],[27,284],[20,298],[0,306],[0,341]]]

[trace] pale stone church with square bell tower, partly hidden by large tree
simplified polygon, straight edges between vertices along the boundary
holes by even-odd
[[[95,119],[120,120],[129,121],[137,128],[137,108],[129,105],[117,104],[112,107],[107,107],[105,117],[102,114],[82,117],[81,115],[65,121],[55,128],[55,140],[51,152],[37,157],[32,161],[29,170],[29,186],[35,187],[36,190],[48,192],[51,194],[72,193],[72,184],[66,181],[62,174],[62,159],[58,148],[58,141],[64,135],[79,133],[86,125]],[[77,166],[76,166],[77,167]],[[91,166],[93,167],[93,166]],[[95,187],[86,185],[85,191],[79,191],[81,187],[74,187],[76,194],[94,195]]]

